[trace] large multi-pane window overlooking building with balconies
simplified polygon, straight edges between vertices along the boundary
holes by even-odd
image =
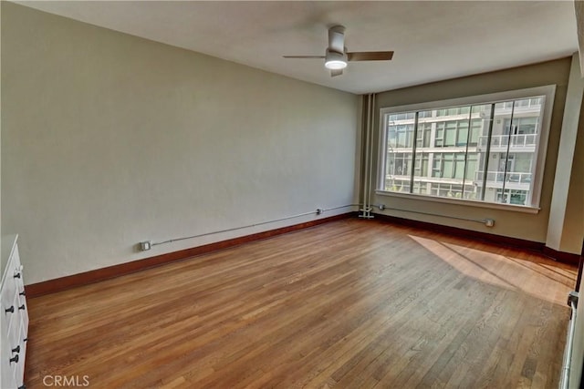
[[[378,190],[537,208],[554,92],[381,108]]]

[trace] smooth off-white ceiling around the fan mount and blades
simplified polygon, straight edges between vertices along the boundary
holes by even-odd
[[[407,87],[570,56],[572,1],[17,2],[96,26],[352,93]],[[349,51],[394,50],[330,77],[319,59],[328,26]]]

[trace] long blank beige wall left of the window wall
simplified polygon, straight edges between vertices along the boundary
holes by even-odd
[[[2,230],[26,283],[351,204],[358,118],[348,93],[2,2]]]

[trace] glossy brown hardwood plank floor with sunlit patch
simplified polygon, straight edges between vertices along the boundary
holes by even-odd
[[[576,268],[340,220],[28,302],[26,386],[558,386]]]

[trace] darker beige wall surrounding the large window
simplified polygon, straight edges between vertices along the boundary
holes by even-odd
[[[483,224],[473,221],[427,216],[401,210],[384,210],[382,212],[401,218],[422,220],[467,230],[484,231],[527,241],[545,242],[547,236],[547,220],[549,219],[550,202],[554,185],[556,160],[558,159],[559,136],[564,105],[566,102],[569,70],[570,58],[568,57],[527,67],[517,67],[473,77],[462,77],[418,87],[408,87],[388,91],[380,93],[377,96],[377,108],[379,112],[380,107],[402,106],[456,97],[483,95],[513,89],[541,87],[551,84],[556,85],[556,97],[551,118],[546,167],[544,170],[543,189],[540,201],[541,210],[537,214],[510,210],[487,209],[474,207],[472,205],[460,206],[427,200],[403,199],[383,195],[374,195],[372,203],[384,203],[391,208],[398,208],[401,210],[417,210],[427,213],[451,215],[460,218],[479,220],[487,218],[494,219],[495,227],[488,228]],[[377,154],[380,134],[379,117],[376,118],[375,128],[377,138],[374,150]],[[584,149],[579,146],[579,149],[576,152],[581,155],[584,153]],[[378,177],[377,168],[379,167],[376,167],[375,177]],[[572,174],[581,175],[581,167],[575,167]],[[576,187],[577,186],[575,186],[575,188]],[[581,212],[581,208],[578,207],[576,201],[574,203],[568,203],[568,207],[574,207],[573,210],[579,210]],[[576,233],[581,242],[581,230],[576,231]]]

